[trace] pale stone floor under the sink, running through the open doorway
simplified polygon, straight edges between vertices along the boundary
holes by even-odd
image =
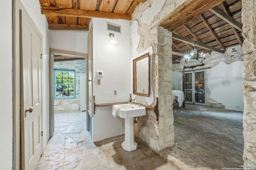
[[[124,135],[92,143],[85,129],[85,112],[55,113],[54,118],[54,137],[46,145],[37,170],[174,169],[141,142],[137,150],[123,150]]]

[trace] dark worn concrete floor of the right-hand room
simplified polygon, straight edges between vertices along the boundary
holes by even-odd
[[[181,170],[221,170],[243,165],[243,113],[174,104],[175,146],[161,152]]]

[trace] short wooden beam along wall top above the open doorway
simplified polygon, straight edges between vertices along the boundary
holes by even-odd
[[[66,29],[66,30],[89,30],[89,25],[75,25],[63,23],[48,23],[48,29]]]

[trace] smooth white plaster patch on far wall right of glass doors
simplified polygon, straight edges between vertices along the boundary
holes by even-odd
[[[210,98],[222,103],[225,109],[244,110],[243,64],[243,61],[231,64],[220,62],[214,68],[207,70]]]

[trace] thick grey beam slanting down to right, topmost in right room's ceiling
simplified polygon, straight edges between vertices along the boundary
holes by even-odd
[[[243,31],[242,30],[242,25],[238,21],[236,21],[234,18],[232,18],[230,15],[226,14],[218,6],[215,6],[212,9],[210,9],[210,12],[212,12],[216,16],[220,17],[222,20],[226,21],[227,23],[229,23],[230,25],[232,25],[233,27],[235,27],[239,31],[241,31],[241,32]]]

